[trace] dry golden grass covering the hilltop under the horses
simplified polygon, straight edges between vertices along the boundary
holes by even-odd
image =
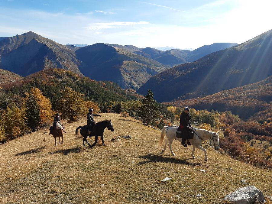
[[[192,160],[192,147],[177,141],[173,142],[176,157],[169,147],[159,154],[160,131],[119,114],[102,114],[96,120],[106,119],[112,119],[115,131],[105,129],[105,147],[100,143],[89,149],[82,147],[82,138],[76,139],[74,131],[85,125],[85,119],[65,124],[64,143],[57,147],[52,136],[43,134],[46,129],[1,145],[0,203],[222,203],[226,194],[249,185],[272,196],[271,170],[212,148],[207,150],[208,162],[200,150]],[[110,141],[122,135],[132,139]],[[166,176],[172,180],[164,183]],[[199,193],[202,197],[196,198]]]

